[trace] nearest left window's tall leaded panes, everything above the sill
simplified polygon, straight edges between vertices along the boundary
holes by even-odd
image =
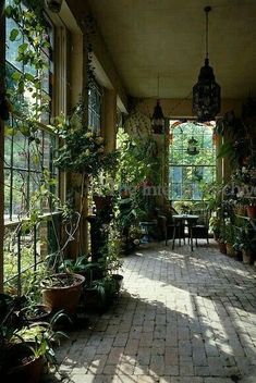
[[[12,4],[12,0],[7,1],[7,5]],[[25,10],[25,7],[22,4]],[[51,82],[52,82],[52,46],[53,28],[48,20],[45,24],[45,38],[49,42],[40,49],[39,57],[46,64],[44,73],[33,63],[24,64],[19,59],[21,47],[27,45],[33,52],[34,47],[28,44],[25,37],[22,23],[16,23],[13,18],[7,17],[7,42],[5,42],[5,67],[7,67],[7,88],[14,104],[16,115],[13,115],[7,127],[4,138],[4,219],[15,220],[19,215],[25,214],[29,210],[31,195],[40,185],[44,169],[47,169],[52,176],[56,175],[53,168],[53,152],[56,149],[56,139],[51,132],[44,127],[49,123],[51,107]],[[17,30],[17,38],[12,40],[10,34]],[[40,88],[35,89],[35,84],[26,82],[23,91],[17,91],[21,86],[16,79],[29,79],[29,74],[40,78]],[[38,107],[38,123],[40,128],[33,133],[34,139],[29,132],[29,124],[20,116],[37,115],[35,111],[35,97],[37,91],[36,104]],[[42,108],[39,108],[42,107]],[[38,124],[39,126],[39,124]],[[36,140],[40,145],[36,145]],[[38,158],[40,157],[40,163]],[[41,207],[44,208],[44,207]]]

